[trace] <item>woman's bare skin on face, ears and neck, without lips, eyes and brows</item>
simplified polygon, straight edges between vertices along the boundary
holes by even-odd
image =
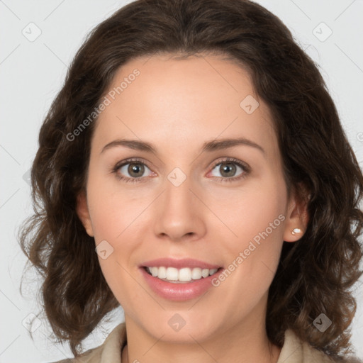
[[[86,194],[77,206],[96,245],[106,240],[113,247],[99,263],[125,311],[122,362],[277,362],[281,349],[269,342],[265,328],[267,294],[283,241],[295,242],[303,232],[291,230],[306,228],[306,206],[294,189],[288,198],[269,108],[247,71],[223,57],[134,59],[118,70],[109,90],[135,68],[140,75],[96,121]],[[240,107],[247,95],[259,102],[251,114]],[[264,152],[249,145],[200,152],[208,140],[236,137]],[[152,143],[157,154],[124,146],[101,152],[118,138]],[[139,179],[129,165],[118,169],[138,179],[134,183],[110,172],[129,157],[146,164]],[[250,172],[236,166],[223,174],[226,157],[247,163]],[[180,186],[167,179],[175,167],[186,176]],[[228,176],[237,180],[222,180]],[[168,301],[140,274],[142,262],[158,257],[191,257],[227,268],[279,215],[284,222],[199,298]],[[178,332],[168,325],[175,313],[186,321]]]

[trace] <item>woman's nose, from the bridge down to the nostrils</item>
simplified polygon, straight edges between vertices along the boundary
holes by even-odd
[[[155,205],[155,235],[175,242],[202,238],[206,233],[203,216],[208,211],[202,199],[188,177],[179,186],[166,179]]]

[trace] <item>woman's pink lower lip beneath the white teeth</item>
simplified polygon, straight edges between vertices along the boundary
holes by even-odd
[[[172,301],[186,301],[190,300],[191,298],[197,298],[201,296],[204,292],[213,287],[211,281],[219,274],[218,271],[216,274],[208,277],[202,277],[196,281],[174,284],[172,282],[163,281],[157,277],[147,274],[143,267],[140,267],[140,270],[152,291],[162,298]]]

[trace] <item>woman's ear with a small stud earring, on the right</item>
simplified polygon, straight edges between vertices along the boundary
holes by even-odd
[[[300,192],[296,187],[291,190],[284,229],[284,241],[286,242],[300,240],[308,226],[308,201],[310,195],[303,184],[298,184],[298,189]]]

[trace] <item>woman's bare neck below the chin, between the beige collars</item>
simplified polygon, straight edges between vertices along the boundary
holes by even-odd
[[[228,330],[221,328],[203,341],[189,334],[189,339],[182,342],[167,340],[163,333],[154,337],[127,316],[125,323],[128,345],[123,349],[122,363],[276,363],[281,352],[267,338],[264,317],[245,322],[248,326],[244,323]]]

